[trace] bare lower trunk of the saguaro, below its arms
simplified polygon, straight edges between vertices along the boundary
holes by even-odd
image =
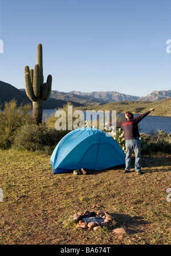
[[[32,102],[32,119],[35,125],[42,123],[43,116],[43,100],[38,98]]]

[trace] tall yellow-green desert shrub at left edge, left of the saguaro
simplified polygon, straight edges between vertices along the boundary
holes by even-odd
[[[32,123],[32,116],[29,113],[31,105],[17,106],[13,99],[5,102],[4,109],[0,111],[0,148],[7,149],[14,140],[15,131],[18,127]]]

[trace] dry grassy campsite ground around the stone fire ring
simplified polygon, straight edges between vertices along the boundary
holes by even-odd
[[[50,155],[0,151],[0,244],[120,245],[170,244],[171,155],[142,157],[143,175],[134,169],[92,175],[52,174]],[[132,159],[133,163],[134,159]],[[109,211],[117,223],[100,231],[76,230],[71,215]],[[125,227],[129,234],[113,234]]]

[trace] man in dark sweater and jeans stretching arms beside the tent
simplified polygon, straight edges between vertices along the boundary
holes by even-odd
[[[150,114],[151,111],[154,111],[154,109],[150,109],[138,117],[134,117],[131,112],[126,112],[125,120],[116,122],[116,126],[123,129],[125,138],[126,158],[123,173],[128,173],[130,170],[133,150],[135,153],[135,171],[137,171],[137,174],[141,174],[141,142],[139,139],[138,124],[146,115]],[[107,125],[111,126],[112,122],[107,123]]]

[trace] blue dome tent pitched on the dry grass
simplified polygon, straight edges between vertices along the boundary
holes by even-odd
[[[75,169],[103,170],[125,163],[125,153],[104,131],[86,127],[65,135],[51,155],[53,173]]]

